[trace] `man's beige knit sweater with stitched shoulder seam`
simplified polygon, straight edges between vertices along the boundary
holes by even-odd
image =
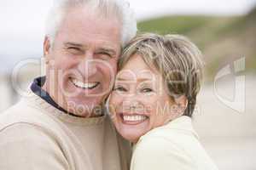
[[[1,170],[129,169],[130,144],[108,116],[70,116],[31,95],[0,113]]]

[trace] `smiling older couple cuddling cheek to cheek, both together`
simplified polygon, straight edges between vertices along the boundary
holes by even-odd
[[[46,33],[46,76],[0,115],[0,169],[218,169],[192,127],[202,62],[187,38],[136,36],[122,0],[61,0]]]

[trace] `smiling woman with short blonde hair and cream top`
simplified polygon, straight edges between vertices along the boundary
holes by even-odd
[[[218,169],[191,122],[201,77],[201,52],[185,37],[143,34],[128,44],[109,111],[134,144],[131,170]]]

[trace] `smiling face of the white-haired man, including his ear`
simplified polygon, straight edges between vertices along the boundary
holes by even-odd
[[[49,64],[45,87],[55,102],[78,116],[93,116],[110,92],[121,49],[120,23],[87,8],[69,9],[55,43],[44,54]]]

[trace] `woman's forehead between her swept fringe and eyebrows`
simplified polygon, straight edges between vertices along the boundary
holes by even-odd
[[[159,72],[150,68],[139,54],[132,55],[117,76],[122,80],[152,80],[159,77]]]

